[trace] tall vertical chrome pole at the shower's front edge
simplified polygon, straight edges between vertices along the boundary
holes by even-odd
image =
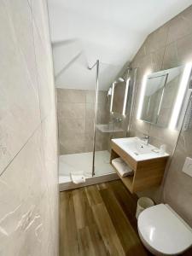
[[[94,133],[93,133],[93,161],[92,161],[92,177],[95,176],[95,153],[96,153],[96,117],[97,117],[97,102],[98,102],[98,89],[99,89],[99,60],[88,69],[96,66],[96,99],[95,99],[95,118],[94,118]]]

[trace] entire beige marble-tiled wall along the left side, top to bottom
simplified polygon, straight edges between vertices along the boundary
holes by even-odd
[[[0,255],[58,255],[55,87],[46,1],[1,1],[0,31]]]

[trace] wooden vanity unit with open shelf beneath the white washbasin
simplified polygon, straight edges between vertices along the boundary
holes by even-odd
[[[115,167],[112,165],[112,160],[117,157],[120,157],[128,166],[131,167],[131,169],[134,171],[132,176],[121,177],[119,175],[119,172],[117,172]],[[134,160],[130,154],[126,153],[116,143],[112,142],[110,163],[114,170],[118,173],[127,189],[129,189],[131,193],[134,193],[160,185],[166,169],[168,157],[169,156],[162,156],[150,160],[137,161]]]

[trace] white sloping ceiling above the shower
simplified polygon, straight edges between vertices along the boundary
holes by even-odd
[[[192,4],[192,0],[48,0],[55,85],[107,90],[150,32]]]

